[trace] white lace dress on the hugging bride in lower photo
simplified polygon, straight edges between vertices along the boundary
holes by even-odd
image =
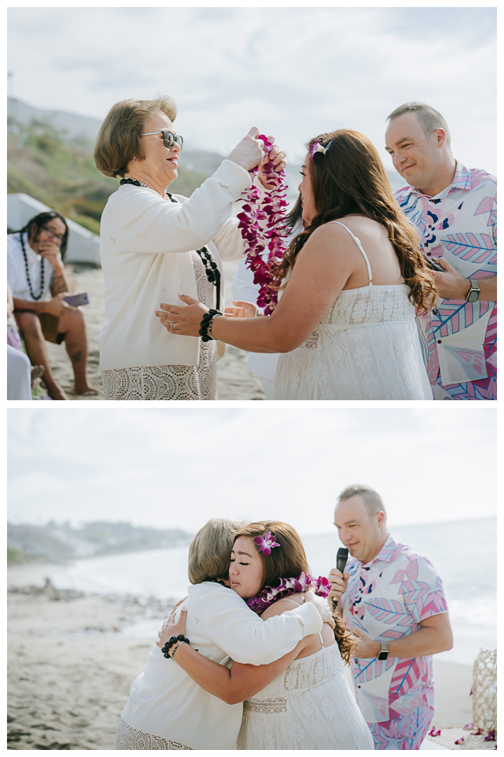
[[[243,702],[237,749],[374,749],[338,644],[324,647],[319,636],[319,652]]]

